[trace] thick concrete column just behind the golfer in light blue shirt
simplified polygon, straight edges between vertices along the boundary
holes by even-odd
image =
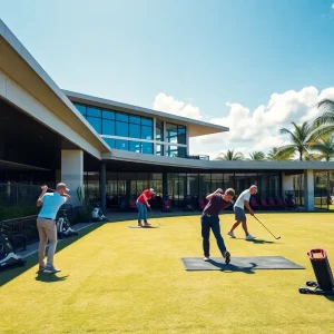
[[[84,151],[80,149],[61,150],[61,181],[70,189],[68,204],[80,206],[78,187],[84,189]]]

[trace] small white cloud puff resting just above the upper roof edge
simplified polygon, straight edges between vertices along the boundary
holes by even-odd
[[[173,96],[167,96],[164,92],[160,92],[156,96],[153,108],[158,111],[165,111],[193,119],[199,120],[203,118],[197,107],[181,102],[175,99]]]

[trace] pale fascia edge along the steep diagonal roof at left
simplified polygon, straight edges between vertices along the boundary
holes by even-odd
[[[72,105],[67,95],[60,89],[57,84],[51,79],[51,77],[46,72],[46,70],[37,62],[37,60],[31,56],[31,53],[24,48],[24,46],[19,41],[19,39],[13,35],[13,32],[6,26],[6,23],[0,19],[0,36],[19,53],[19,56],[30,66],[30,68],[38,75],[43,82],[53,91],[53,94],[61,99],[61,101],[80,119],[86,127],[90,129],[94,136],[104,145],[107,150],[110,151],[110,147],[101,139],[101,137],[95,131],[95,129],[89,125],[88,121],[82,117],[82,115]],[[84,121],[82,121],[84,120]]]

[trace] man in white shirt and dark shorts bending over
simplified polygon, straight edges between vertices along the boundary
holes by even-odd
[[[253,240],[255,237],[248,233],[247,229],[247,219],[245,215],[245,207],[248,209],[250,216],[254,216],[254,212],[252,210],[249,206],[249,198],[250,195],[254,195],[257,193],[257,187],[255,185],[250,186],[249,189],[244,190],[238,199],[234,204],[234,214],[235,214],[235,223],[233,224],[230,230],[227,233],[230,237],[235,238],[234,229],[237,228],[240,223],[243,224],[244,232],[246,234],[246,240]]]

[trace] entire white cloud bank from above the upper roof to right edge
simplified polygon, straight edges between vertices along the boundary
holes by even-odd
[[[226,102],[222,107],[220,117],[209,118],[206,115],[205,119],[228,127],[229,131],[190,138],[190,154],[204,154],[215,158],[222,151],[235,149],[249,157],[249,153],[254,150],[267,153],[272,147],[286,145],[288,138],[281,135],[279,129],[291,128],[292,121],[302,124],[315,119],[322,112],[316,105],[324,98],[334,99],[334,87],[321,92],[315,87],[274,92],[267,102],[253,111],[240,104]],[[154,109],[204,119],[199,108],[163,92],[156,97]]]

